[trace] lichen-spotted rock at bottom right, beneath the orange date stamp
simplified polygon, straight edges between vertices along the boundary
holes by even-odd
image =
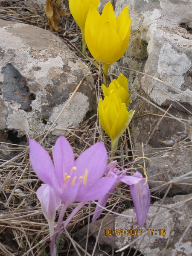
[[[132,247],[135,250],[138,249],[140,255],[143,256],[163,256],[163,253],[166,256],[192,256],[191,207],[192,194],[166,198],[162,205],[160,201],[155,202],[148,212],[148,226],[145,225],[142,228],[135,224],[137,222],[135,217],[117,216],[115,224],[113,224],[113,216],[108,216],[104,220],[95,221],[89,225],[89,239],[93,243],[92,239],[96,239],[102,224],[98,242],[100,247],[106,248],[106,252],[108,252],[108,248],[112,247],[112,244],[115,250],[119,250],[137,239],[132,243]],[[135,216],[135,211],[128,209],[123,214]],[[125,229],[126,234],[124,235]],[[114,236],[111,234],[113,230],[115,230]],[[121,230],[123,230],[123,235],[120,234]],[[180,241],[180,237],[185,231],[183,240]],[[106,236],[105,232],[109,235]],[[87,226],[75,236],[77,241],[81,241],[81,245],[86,237]]]

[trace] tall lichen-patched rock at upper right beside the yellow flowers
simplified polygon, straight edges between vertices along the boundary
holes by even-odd
[[[138,109],[151,92],[148,99],[157,107],[166,111],[172,104],[170,114],[176,118],[188,119],[189,111],[192,112],[192,1],[130,0],[127,3],[119,0],[116,2],[116,15],[127,4],[130,17],[133,18],[132,33],[149,26],[131,36],[128,50],[119,64],[170,84],[169,86],[134,71],[124,70],[123,73],[127,73],[129,77],[129,89],[132,92],[130,109]],[[139,93],[144,99],[135,93]],[[162,146],[157,138],[170,139],[176,132],[182,132],[183,137],[188,134],[186,126],[176,119],[163,118],[155,128],[161,117],[150,114],[164,114],[157,107],[145,102],[140,113],[147,115],[134,119],[133,131],[137,149],[141,142],[146,143],[154,129],[148,142],[151,147]]]

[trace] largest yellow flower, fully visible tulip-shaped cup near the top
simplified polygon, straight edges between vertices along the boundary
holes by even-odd
[[[113,64],[119,60],[128,47],[130,35],[128,6],[123,8],[117,19],[110,2],[106,3],[102,15],[94,6],[90,6],[85,23],[85,40],[96,61]],[[110,66],[104,64],[105,75],[108,74]]]

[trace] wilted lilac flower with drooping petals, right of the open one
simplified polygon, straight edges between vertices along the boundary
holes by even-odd
[[[148,183],[146,182],[146,178],[140,174],[140,172],[136,172],[132,176],[127,176],[125,172],[120,172],[118,169],[115,169],[116,161],[110,163],[106,168],[106,176],[114,177],[116,179],[116,183],[124,182],[130,185],[131,197],[134,202],[134,207],[137,216],[137,222],[140,227],[143,227],[145,220],[147,218],[148,209],[150,207],[150,191]],[[116,186],[113,186],[108,192],[113,193]],[[98,205],[96,206],[93,221],[95,221],[102,213],[102,207],[105,207],[109,195],[104,195],[99,199]],[[102,207],[100,207],[100,206]],[[101,209],[101,211],[99,211]],[[99,212],[97,212],[99,211]]]

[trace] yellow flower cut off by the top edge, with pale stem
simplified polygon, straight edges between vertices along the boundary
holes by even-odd
[[[99,6],[100,0],[69,0],[69,8],[71,15],[76,21],[77,25],[81,29],[82,39],[83,39],[83,54],[86,55],[85,47],[86,43],[84,40],[84,26],[87,18],[87,13],[89,11],[90,5],[94,6],[96,9]]]

